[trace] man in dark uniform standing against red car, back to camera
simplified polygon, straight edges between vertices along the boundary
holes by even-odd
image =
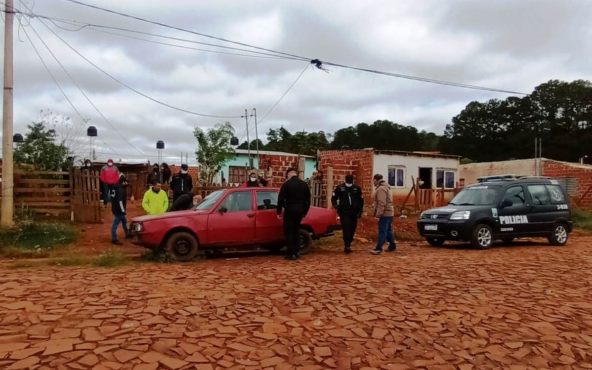
[[[286,171],[288,179],[279,190],[278,219],[284,210],[284,235],[288,244],[286,259],[295,260],[299,255],[300,223],[310,209],[310,188],[298,178],[298,171],[291,168]]]

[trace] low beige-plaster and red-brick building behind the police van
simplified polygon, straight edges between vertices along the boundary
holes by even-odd
[[[515,173],[518,176],[549,176],[559,181],[571,204],[592,209],[592,165],[536,158],[502,160],[461,165],[461,179],[466,184],[477,182],[480,176]]]

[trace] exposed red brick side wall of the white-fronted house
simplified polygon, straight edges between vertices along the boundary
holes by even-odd
[[[318,169],[323,171],[323,205],[327,197],[327,169],[333,168],[333,186],[345,182],[346,175],[353,175],[354,181],[362,188],[366,205],[372,202],[372,170],[374,153],[372,150],[327,150],[321,152]],[[333,189],[329,189],[330,192]]]

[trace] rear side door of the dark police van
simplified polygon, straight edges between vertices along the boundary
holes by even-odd
[[[551,203],[547,187],[543,184],[533,184],[526,185],[526,189],[530,195],[530,207],[532,209],[529,220],[531,232],[545,234],[551,232],[560,212],[558,212],[558,206]]]

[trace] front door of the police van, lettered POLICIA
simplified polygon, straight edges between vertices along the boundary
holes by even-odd
[[[510,201],[511,205],[504,207],[503,203],[506,201]],[[530,212],[530,206],[527,204],[526,192],[523,186],[514,185],[507,188],[497,207],[497,214],[500,221],[496,230],[497,235],[514,236],[529,233],[528,223]]]

